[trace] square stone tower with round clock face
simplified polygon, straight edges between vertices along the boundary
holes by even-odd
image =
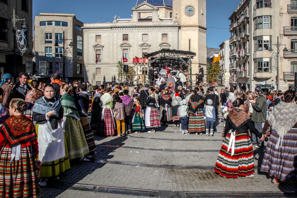
[[[206,73],[206,0],[173,0],[173,20],[181,26],[179,50],[195,52],[192,75],[201,65]]]

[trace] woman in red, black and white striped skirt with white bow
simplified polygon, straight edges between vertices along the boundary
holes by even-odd
[[[254,153],[248,129],[260,141],[264,140],[264,136],[243,111],[243,104],[241,98],[237,98],[232,104],[234,109],[227,116],[224,141],[214,168],[217,174],[225,178],[254,176]]]

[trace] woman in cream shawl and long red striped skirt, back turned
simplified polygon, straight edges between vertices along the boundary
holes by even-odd
[[[105,88],[105,94],[101,96],[102,114],[100,122],[100,132],[105,136],[113,136],[115,134],[115,121],[113,119],[113,97],[111,88]]]

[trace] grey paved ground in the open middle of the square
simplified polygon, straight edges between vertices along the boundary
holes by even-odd
[[[126,137],[94,135],[93,160],[72,163],[41,197],[292,197],[296,183],[272,185],[258,172],[264,150],[256,149],[255,176],[226,179],[214,174],[223,123],[214,137],[183,135],[169,125],[156,133]]]

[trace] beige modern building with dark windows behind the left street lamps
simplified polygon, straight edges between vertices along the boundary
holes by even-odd
[[[37,73],[39,75],[39,61],[46,61],[48,75],[41,75],[42,81],[49,81],[50,76],[57,72],[68,82],[83,81],[83,22],[76,19],[74,14],[40,13],[34,19],[34,53]],[[63,41],[66,37],[65,50],[71,50],[65,56],[65,73],[63,74]],[[59,47],[55,47],[58,39]],[[73,42],[73,47],[70,47]],[[69,49],[67,49],[67,47]]]

